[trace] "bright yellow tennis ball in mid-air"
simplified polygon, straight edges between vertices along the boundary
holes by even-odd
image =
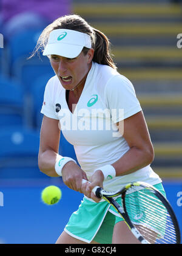
[[[45,204],[56,204],[61,199],[61,189],[55,185],[50,185],[42,190],[41,198]]]

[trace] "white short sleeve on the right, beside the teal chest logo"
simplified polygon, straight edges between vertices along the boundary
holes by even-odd
[[[106,100],[112,121],[120,122],[141,111],[132,83],[123,75],[115,75],[106,85]]]

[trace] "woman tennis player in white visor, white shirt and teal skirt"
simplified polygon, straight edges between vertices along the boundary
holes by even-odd
[[[106,35],[78,15],[46,27],[35,52],[39,49],[55,71],[41,109],[39,169],[84,193],[56,243],[140,243],[115,209],[92,192],[96,185],[115,191],[144,181],[164,193],[150,167],[153,147],[132,83],[116,71]],[[79,165],[58,154],[60,127]]]

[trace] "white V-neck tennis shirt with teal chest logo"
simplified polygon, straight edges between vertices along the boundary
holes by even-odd
[[[73,113],[66,102],[66,89],[57,76],[50,78],[45,86],[41,109],[45,116],[59,120],[62,134],[74,146],[79,165],[88,179],[93,171],[113,164],[129,150],[115,124],[139,111],[141,106],[132,83],[112,67],[94,62]],[[105,181],[103,185],[106,190],[116,190],[132,181],[154,185],[161,179],[148,165]]]

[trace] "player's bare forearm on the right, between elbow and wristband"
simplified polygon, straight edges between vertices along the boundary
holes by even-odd
[[[151,164],[153,157],[153,147],[150,147],[148,150],[132,147],[118,161],[114,162],[112,166],[116,170],[116,176],[127,175]]]

